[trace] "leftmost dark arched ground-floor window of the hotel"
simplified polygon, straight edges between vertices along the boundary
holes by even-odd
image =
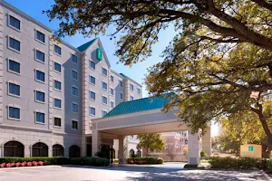
[[[4,157],[24,157],[24,145],[18,141],[8,141],[4,145]]]

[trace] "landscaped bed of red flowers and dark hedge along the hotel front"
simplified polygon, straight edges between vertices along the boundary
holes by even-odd
[[[46,165],[108,167],[110,161],[102,157],[0,157],[0,167],[36,167]]]

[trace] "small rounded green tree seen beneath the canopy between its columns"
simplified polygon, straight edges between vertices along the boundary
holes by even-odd
[[[149,155],[149,150],[162,151],[166,148],[164,139],[161,138],[160,134],[138,135],[138,138],[139,138],[140,142],[137,145],[137,148],[138,149],[146,148],[147,155]]]

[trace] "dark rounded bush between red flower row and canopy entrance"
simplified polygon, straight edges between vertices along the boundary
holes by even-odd
[[[110,160],[102,157],[73,157],[71,163],[76,166],[108,167]]]

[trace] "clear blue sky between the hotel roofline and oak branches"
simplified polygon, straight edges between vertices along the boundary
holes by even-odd
[[[46,26],[52,28],[53,30],[56,30],[58,28],[58,21],[54,20],[52,22],[49,22],[48,17],[46,14],[42,14],[43,10],[47,10],[50,8],[50,5],[53,5],[53,0],[24,0],[24,1],[18,1],[18,0],[5,0],[5,2],[9,3],[10,5],[14,5],[16,8],[23,11],[25,14],[29,14],[30,16],[34,17],[37,21],[41,22],[42,24],[45,24]],[[37,3],[39,2],[39,3]],[[109,29],[108,33],[113,33],[114,29]],[[143,85],[143,97],[148,96],[148,91],[145,90],[145,85],[143,84],[143,78],[144,75],[147,74],[147,68],[153,65],[156,62],[162,61],[160,58],[161,52],[164,50],[166,45],[170,43],[170,41],[173,39],[175,35],[174,30],[167,29],[160,33],[159,36],[159,43],[156,43],[153,46],[153,53],[150,58],[148,58],[145,62],[139,62],[137,64],[134,64],[132,67],[124,66],[121,63],[118,63],[118,57],[114,56],[115,52],[115,44],[114,40],[110,40],[110,37],[107,35],[99,35],[99,37],[102,40],[103,47],[106,51],[106,54],[108,56],[108,59],[111,62],[112,69],[117,72],[122,72],[125,75],[131,77],[131,79],[140,82]],[[83,37],[82,34],[77,34],[72,37],[64,37],[64,41],[66,43],[72,44],[74,47],[78,47],[83,43],[86,43],[90,40],[95,38],[92,37]]]

